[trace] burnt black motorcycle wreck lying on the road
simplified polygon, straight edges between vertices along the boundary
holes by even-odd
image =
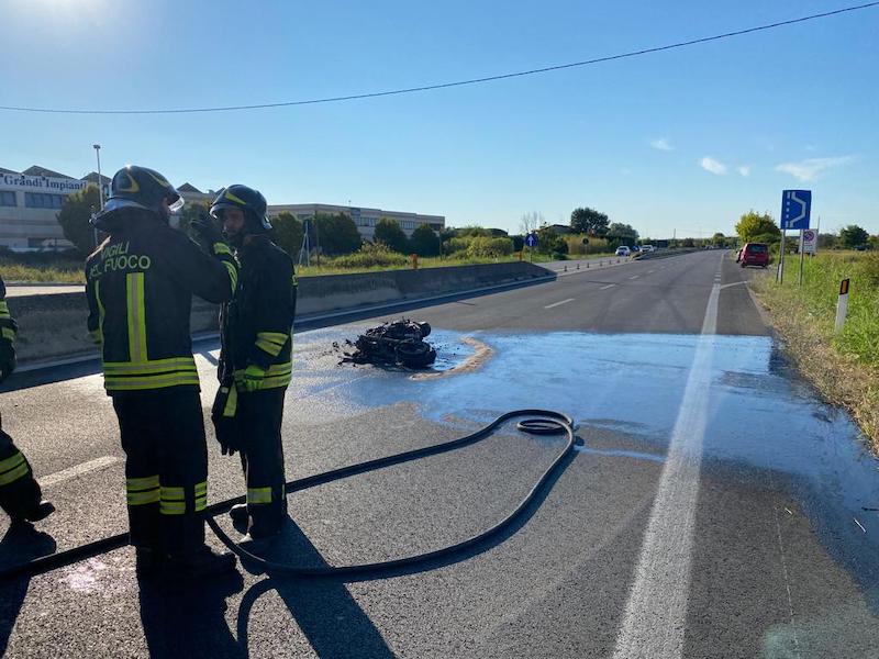
[[[401,319],[370,327],[357,337],[354,347],[345,353],[344,362],[404,366],[426,368],[436,359],[436,350],[424,338],[431,334],[431,325],[425,322]]]

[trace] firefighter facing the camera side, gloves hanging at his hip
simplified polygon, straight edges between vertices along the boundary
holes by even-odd
[[[230,512],[253,549],[287,517],[281,417],[292,370],[296,273],[268,232],[266,200],[246,186],[221,190],[211,215],[241,263],[235,297],[221,310],[220,391],[212,417],[223,454],[241,453],[247,503]]]

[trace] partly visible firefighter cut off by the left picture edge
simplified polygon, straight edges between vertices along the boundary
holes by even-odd
[[[0,277],[0,382],[15,370],[15,334],[19,326],[9,313],[5,302],[7,287]],[[31,465],[12,437],[0,425],[0,507],[12,524],[38,522],[55,512],[55,506],[43,501],[40,483],[34,479]]]

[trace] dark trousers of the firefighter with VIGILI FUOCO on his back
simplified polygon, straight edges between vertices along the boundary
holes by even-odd
[[[204,545],[208,447],[194,387],[113,393],[131,544],[183,555]]]

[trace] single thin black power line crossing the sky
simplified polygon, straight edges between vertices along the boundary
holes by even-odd
[[[419,91],[431,91],[434,89],[448,89],[449,87],[464,87],[466,85],[480,85],[483,82],[493,82],[496,80],[505,80],[508,78],[521,78],[524,76],[535,76],[538,74],[547,74],[549,71],[558,71],[561,69],[576,68],[581,66],[589,66],[592,64],[601,64],[604,62],[613,62],[615,59],[625,59],[628,57],[638,57],[642,55],[649,55],[653,53],[661,53],[663,51],[674,51],[675,48],[683,48],[687,46],[694,46],[709,42],[730,38],[733,36],[742,36],[743,34],[752,34],[754,32],[763,32],[766,30],[775,30],[777,27],[785,27],[795,23],[804,23],[806,21],[814,21],[816,19],[826,19],[842,13],[859,11],[863,9],[870,9],[879,7],[879,1],[867,2],[866,4],[856,4],[853,7],[845,7],[834,11],[825,11],[823,13],[810,14],[799,19],[790,19],[788,21],[779,21],[777,23],[768,23],[766,25],[757,25],[755,27],[747,27],[745,30],[736,30],[735,32],[725,32],[723,34],[715,34],[713,36],[703,36],[701,38],[693,38],[690,41],[677,42],[664,46],[656,46],[653,48],[643,48],[641,51],[631,51],[628,53],[620,53],[617,55],[608,55],[604,57],[596,57],[593,59],[585,59],[582,62],[571,62],[568,64],[558,64],[555,66],[546,66],[543,68],[528,69],[525,71],[515,71],[512,74],[501,74],[498,76],[486,76],[482,78],[470,78],[468,80],[456,80],[454,82],[441,82],[437,85],[423,85],[420,87],[407,87],[402,89],[391,89],[386,91],[374,91],[369,93],[355,93],[348,96],[326,97],[322,99],[307,99],[301,101],[281,101],[277,103],[257,103],[252,105],[221,105],[215,108],[173,108],[173,109],[153,109],[153,110],[71,110],[59,108],[25,108],[15,105],[0,105],[0,110],[8,110],[14,112],[41,112],[46,114],[191,114],[196,112],[235,112],[242,110],[265,110],[268,108],[289,108],[293,105],[316,105],[319,103],[340,103],[343,101],[356,101],[363,99],[375,99],[380,97],[400,96],[404,93],[414,93]]]

